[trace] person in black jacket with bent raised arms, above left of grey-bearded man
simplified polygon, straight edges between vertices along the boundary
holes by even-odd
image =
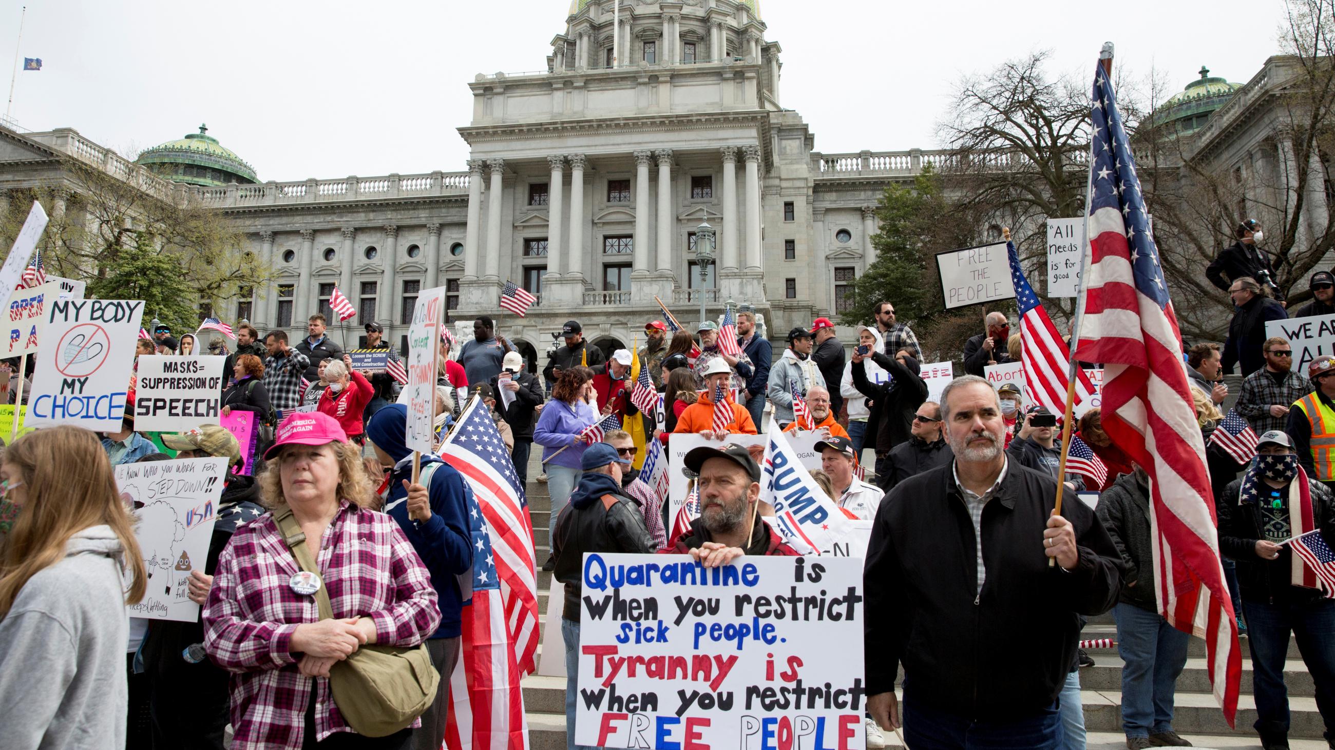
[[[866,359],[880,364],[890,378],[872,383],[866,378]],[[918,362],[904,350],[894,359],[878,351],[868,355],[853,351],[853,387],[872,402],[862,447],[876,451],[877,476],[890,472],[890,450],[912,436],[913,412],[926,400],[926,382],[918,378]]]

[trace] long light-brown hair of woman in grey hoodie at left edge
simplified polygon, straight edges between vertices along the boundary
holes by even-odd
[[[28,502],[0,563],[0,619],[24,585],[60,562],[69,539],[92,526],[109,526],[120,540],[121,567],[131,577],[125,603],[143,599],[148,586],[144,555],[97,436],[68,424],[39,430],[15,440],[4,459],[19,468]]]

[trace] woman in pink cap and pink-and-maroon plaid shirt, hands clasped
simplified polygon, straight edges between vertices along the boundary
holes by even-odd
[[[276,459],[260,478],[264,504],[292,510],[334,619],[322,621],[315,597],[290,586],[300,566],[272,514],[236,528],[204,609],[204,649],[232,673],[231,746],[405,747],[410,729],[356,735],[328,674],[362,645],[417,646],[435,631],[441,610],[426,566],[398,523],[375,510],[360,451],[334,418],[292,414],[264,458]]]

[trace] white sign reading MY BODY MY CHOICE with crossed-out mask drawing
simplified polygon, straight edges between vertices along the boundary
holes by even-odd
[[[48,302],[28,424],[119,431],[143,312],[142,300]]]

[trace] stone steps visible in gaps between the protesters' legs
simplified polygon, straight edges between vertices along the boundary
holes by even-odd
[[[547,486],[533,480],[542,472],[534,451],[529,467],[529,512],[537,544],[538,565],[547,559],[547,527],[551,515],[551,498]],[[542,614],[547,611],[547,591],[551,574],[538,571],[538,605]],[[561,602],[554,602],[559,607]],[[545,626],[543,626],[545,627]],[[1116,639],[1117,629],[1112,614],[1092,618],[1085,626],[1083,638]],[[559,643],[559,638],[557,639]],[[1187,669],[1177,679],[1176,711],[1173,727],[1196,747],[1260,747],[1252,723],[1256,721],[1256,706],[1252,701],[1251,658],[1247,651],[1247,637],[1242,638],[1243,679],[1242,698],[1238,705],[1238,729],[1231,730],[1224,723],[1223,714],[1210,693],[1210,678],[1206,670],[1206,643],[1199,638],[1191,641]],[[1121,659],[1116,646],[1089,651],[1095,666],[1080,670],[1081,701],[1084,703],[1085,729],[1089,750],[1115,750],[1125,747],[1121,733]],[[541,657],[541,646],[539,646]],[[1292,714],[1290,746],[1294,750],[1326,750],[1322,739],[1324,723],[1316,711],[1315,687],[1311,674],[1303,665],[1298,646],[1290,642],[1288,662],[1284,670],[1288,686],[1288,706]],[[566,747],[565,718],[565,678],[529,675],[523,681],[523,703],[529,721],[529,738],[533,750],[563,750]],[[898,747],[897,739],[886,738],[890,747]]]

